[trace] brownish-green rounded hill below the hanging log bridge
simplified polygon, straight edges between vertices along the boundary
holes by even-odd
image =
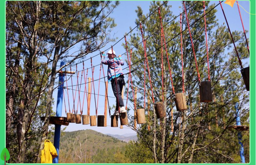
[[[124,138],[124,140],[128,139]],[[88,155],[87,157],[92,157],[102,149],[109,151],[113,149],[113,147],[123,148],[127,145],[124,140],[122,141],[113,136],[93,130],[62,132],[60,138],[59,163],[81,163],[77,154],[82,154],[82,158],[85,157],[85,153]],[[81,146],[79,141],[81,142]]]

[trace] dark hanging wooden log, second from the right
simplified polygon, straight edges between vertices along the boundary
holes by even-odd
[[[212,86],[211,81],[201,81],[199,86],[200,102],[212,102]]]

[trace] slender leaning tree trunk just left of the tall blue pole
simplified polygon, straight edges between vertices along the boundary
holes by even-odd
[[[45,119],[44,119],[43,131],[42,131],[41,145],[40,145],[39,154],[37,157],[37,163],[41,163],[41,150],[43,150],[44,148],[44,141],[47,139],[47,134],[48,134],[48,126],[49,126],[49,119],[51,115],[50,113],[52,109],[53,89],[54,89],[54,82],[56,78],[56,67],[58,62],[59,49],[60,49],[60,46],[56,46],[54,51],[51,80],[49,83],[49,90],[47,92]]]

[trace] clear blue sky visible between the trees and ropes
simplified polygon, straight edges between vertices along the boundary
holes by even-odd
[[[143,13],[146,14],[146,13],[149,12],[150,2],[151,1],[120,1],[119,6],[110,15],[111,17],[113,17],[115,19],[115,23],[117,24],[117,26],[113,29],[111,34],[115,33],[115,36],[118,37],[118,40],[120,38],[122,38],[125,33],[130,31],[129,27],[134,28],[136,26],[136,24],[134,22],[135,22],[135,19],[137,18],[136,13],[135,13],[135,10],[137,9],[137,6],[141,6],[142,10],[143,10]],[[213,3],[217,4],[218,1],[211,1],[210,2],[210,4],[213,4]],[[172,10],[174,15],[178,15],[181,12],[181,9],[179,7],[179,6],[182,5],[181,1],[169,1],[168,4],[172,5],[171,10]],[[198,3],[198,4],[200,5],[200,3]],[[239,1],[239,4],[241,6],[243,6],[243,8],[246,11],[248,11],[248,12],[250,11],[250,2],[249,1]],[[239,12],[238,12],[237,4],[234,4],[234,6],[231,7],[231,6],[229,6],[229,5],[227,5],[223,2],[222,5],[223,5],[223,8],[224,8],[226,17],[228,19],[228,23],[229,23],[229,27],[230,27],[231,31],[234,31],[234,30],[242,31],[243,29],[242,29],[242,24],[241,24]],[[222,10],[221,10],[221,6],[220,5],[217,6],[216,9],[217,9],[216,16],[217,16],[217,19],[218,19],[218,23],[219,24],[225,23],[225,25],[226,25],[226,22],[225,22],[225,19],[224,19]],[[242,18],[243,18],[244,28],[250,32],[250,14],[246,13],[242,9],[242,7],[240,7],[240,11],[241,11],[241,15],[242,15]],[[250,38],[249,34],[247,34],[247,38]],[[129,37],[127,39],[129,40]],[[122,43],[124,43],[124,42],[125,42],[124,40],[119,42],[113,48],[117,55],[123,54],[124,52],[126,52],[126,50],[121,46]],[[105,50],[106,48],[109,48],[113,44],[114,43],[107,44],[106,47],[102,50]],[[94,56],[94,55],[97,55],[98,53],[99,52],[95,52],[91,55],[88,55],[87,58],[89,58],[91,56]],[[243,62],[248,62],[248,60],[244,60]],[[93,64],[94,65],[97,65],[99,63],[100,63],[100,57],[93,58]],[[86,65],[86,67],[90,67],[90,60],[86,61],[85,65]],[[126,66],[127,65],[125,64],[123,66],[123,68],[126,67]],[[78,70],[82,70],[82,67],[83,67],[82,64],[79,64]],[[75,69],[75,68],[73,68],[73,69]],[[107,66],[106,65],[104,66],[104,69],[105,69],[104,72],[106,74],[106,72],[107,72],[107,70],[106,70]],[[129,72],[129,71],[124,70],[124,73],[127,73],[127,72]],[[88,72],[88,77],[89,76],[91,77],[91,70],[89,70],[89,72]],[[102,76],[103,76],[103,73],[101,72],[101,77]],[[81,76],[79,76],[79,77],[81,77]],[[99,66],[95,67],[94,78],[95,79],[99,78]],[[127,78],[126,78],[126,80],[127,80]],[[79,81],[80,81],[80,78],[79,78]],[[82,82],[84,82],[84,80]],[[99,81],[95,81],[95,92],[98,91],[98,83],[99,83]],[[68,81],[68,85],[69,84],[71,85],[70,80]],[[76,84],[75,77],[73,79],[73,85],[74,84]],[[101,84],[100,85],[100,94],[105,95],[104,83],[100,82],[100,84]],[[126,85],[126,87],[127,87],[127,85]],[[84,91],[84,85],[82,85],[81,89]],[[108,94],[109,94],[109,96],[114,96],[110,84],[109,84]],[[69,95],[70,96],[72,95],[71,90],[69,90]],[[55,103],[53,105],[53,110],[56,111],[57,90],[54,91],[53,97],[54,97],[54,100],[55,100]],[[83,98],[83,92],[81,92],[80,97]],[[124,97],[126,99],[126,96],[124,96]],[[66,106],[68,107],[67,93],[66,92],[65,92],[65,99],[66,99]],[[69,99],[70,99],[70,105],[72,107],[72,105],[73,105],[72,96]],[[113,105],[113,104],[115,104],[115,99],[109,98],[109,102],[110,102],[110,105]],[[126,100],[124,100],[124,102],[126,103]],[[96,95],[96,103],[97,103],[97,95]],[[76,104],[77,104],[77,100],[76,100]],[[133,107],[133,104],[128,101],[128,106],[129,105],[131,107]],[[84,106],[84,112],[85,113],[87,111],[86,106],[87,105]],[[68,110],[68,108],[67,108],[67,110]],[[113,114],[113,111],[111,113]],[[80,112],[79,112],[79,114],[80,114]],[[98,115],[103,115],[103,114],[104,114],[104,96],[99,96]],[[131,111],[131,114],[133,114],[133,111]],[[91,97],[90,115],[95,115],[94,95],[92,95],[92,97]],[[62,116],[66,116],[64,103],[63,103],[63,106],[62,106]],[[110,125],[110,118],[109,117],[108,117],[108,122],[107,123],[108,123],[107,125]],[[64,126],[62,126],[62,128],[63,127]],[[124,129],[120,129],[120,128],[112,128],[110,126],[108,126],[108,127],[97,127],[97,126],[91,127],[90,125],[73,124],[73,123],[69,124],[69,126],[66,128],[66,131],[76,131],[76,130],[85,130],[85,129],[92,129],[92,130],[95,130],[95,131],[98,131],[98,132],[101,132],[101,133],[104,133],[104,134],[108,133],[108,134],[122,135],[122,134],[126,134],[126,133],[135,133],[134,131],[132,131],[130,128],[128,128],[126,126],[124,126]]]

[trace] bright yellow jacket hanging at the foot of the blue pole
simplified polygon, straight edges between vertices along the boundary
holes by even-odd
[[[44,141],[44,149],[42,150],[41,163],[53,163],[53,159],[57,157],[57,151],[50,140]]]

